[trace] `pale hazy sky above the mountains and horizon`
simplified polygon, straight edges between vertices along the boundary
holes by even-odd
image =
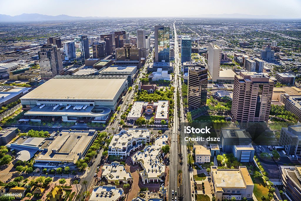
[[[301,18],[301,0],[0,0],[0,14],[97,17],[175,17],[253,14]]]

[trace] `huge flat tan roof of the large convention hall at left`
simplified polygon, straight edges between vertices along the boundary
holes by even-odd
[[[113,100],[123,84],[126,79],[51,79],[21,99]]]

